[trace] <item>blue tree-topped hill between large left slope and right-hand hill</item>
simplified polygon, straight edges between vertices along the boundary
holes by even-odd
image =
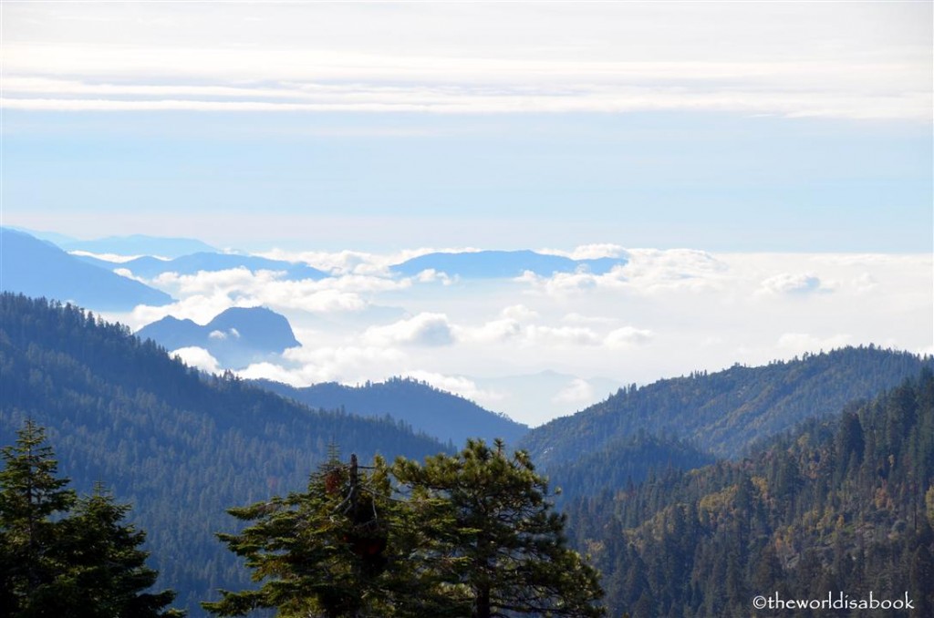
[[[458,395],[423,382],[392,378],[364,386],[335,383],[295,388],[266,380],[257,384],[315,408],[343,408],[352,414],[385,416],[402,421],[442,442],[463,444],[467,438],[515,444],[529,430],[507,416],[490,412]]]

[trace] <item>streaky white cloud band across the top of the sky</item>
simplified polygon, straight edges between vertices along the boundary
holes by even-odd
[[[8,7],[4,105],[929,119],[928,3],[118,8]]]

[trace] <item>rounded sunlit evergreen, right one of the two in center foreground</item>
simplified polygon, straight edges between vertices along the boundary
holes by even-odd
[[[603,615],[598,573],[568,548],[565,517],[552,511],[527,453],[468,441],[457,456],[426,457],[424,465],[400,458],[394,471],[425,515],[427,568],[467,595],[463,615]]]

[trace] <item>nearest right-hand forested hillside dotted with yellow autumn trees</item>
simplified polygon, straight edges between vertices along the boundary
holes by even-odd
[[[934,609],[932,483],[934,374],[925,369],[743,460],[660,473],[566,511],[574,541],[603,572],[611,615],[772,616],[753,598],[842,592],[858,602],[871,591],[907,594],[915,608],[873,616],[920,618]]]

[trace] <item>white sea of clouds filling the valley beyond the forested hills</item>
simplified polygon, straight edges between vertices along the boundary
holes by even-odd
[[[588,393],[604,397],[591,386],[597,377],[646,383],[845,344],[934,351],[927,255],[627,249],[626,256],[625,266],[601,275],[465,281],[390,274],[398,255],[318,253],[310,265],[327,264],[332,276],[163,274],[149,283],[178,302],[113,317],[134,328],[165,315],[204,324],[230,306],[267,306],[289,317],[302,346],[251,365],[245,377],[305,386],[410,375],[532,425],[593,402]],[[204,350],[177,354],[218,369]],[[497,376],[550,371],[571,377],[534,409],[509,386],[484,386]]]

